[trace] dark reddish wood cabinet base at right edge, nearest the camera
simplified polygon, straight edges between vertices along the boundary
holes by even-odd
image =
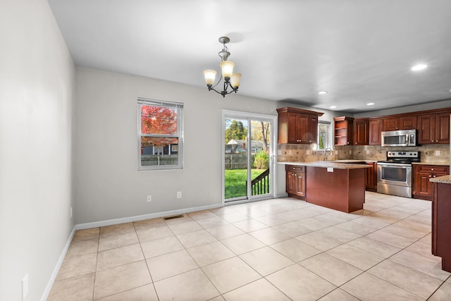
[[[432,254],[442,257],[442,269],[451,272],[451,184],[432,184]]]

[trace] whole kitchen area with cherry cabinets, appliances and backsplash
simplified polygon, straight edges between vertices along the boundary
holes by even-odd
[[[364,209],[365,190],[432,201],[432,253],[442,257],[443,270],[451,271],[451,108],[336,117],[335,152],[314,150],[319,145],[314,124],[290,125],[297,114],[316,121],[321,113],[294,108],[278,113],[278,163],[285,165],[288,196],[346,213]]]

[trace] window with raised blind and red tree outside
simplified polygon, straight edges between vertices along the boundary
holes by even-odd
[[[183,104],[138,99],[138,169],[183,168]]]

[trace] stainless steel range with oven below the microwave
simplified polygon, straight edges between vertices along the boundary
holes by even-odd
[[[386,161],[378,161],[378,190],[386,195],[412,197],[412,162],[420,152],[388,151]]]

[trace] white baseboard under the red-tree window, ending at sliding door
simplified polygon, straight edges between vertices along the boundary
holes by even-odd
[[[152,214],[123,217],[120,219],[108,219],[106,221],[93,221],[92,223],[79,223],[78,225],[75,225],[75,228],[76,228],[76,230],[83,230],[83,229],[89,229],[89,228],[111,226],[111,225],[116,225],[117,223],[130,223],[132,221],[142,221],[144,219],[156,219],[158,217],[163,217],[163,216],[173,216],[173,215],[185,214],[185,213],[194,212],[194,211],[215,209],[215,208],[219,208],[219,207],[223,207],[223,204],[221,203],[221,204],[213,204],[213,205],[200,206],[200,207],[191,207],[191,208],[185,208],[185,209],[163,211],[163,212],[157,212],[157,213],[152,213]]]

